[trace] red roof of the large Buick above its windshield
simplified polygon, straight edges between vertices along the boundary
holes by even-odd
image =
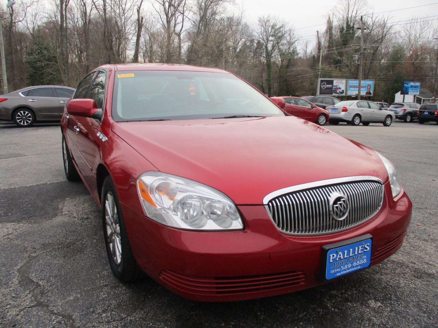
[[[179,71],[194,71],[194,72],[215,72],[215,73],[228,73],[226,70],[219,68],[192,66],[182,64],[161,64],[161,63],[130,63],[130,64],[114,64],[114,65],[102,65],[98,68],[109,68],[112,66],[116,71],[126,70],[179,70]]]

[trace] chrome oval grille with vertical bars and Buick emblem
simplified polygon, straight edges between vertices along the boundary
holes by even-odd
[[[264,199],[276,226],[289,234],[325,234],[356,226],[374,216],[382,202],[383,184],[374,177],[319,181],[281,189]]]

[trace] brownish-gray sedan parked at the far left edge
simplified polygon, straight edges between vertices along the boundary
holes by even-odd
[[[0,121],[14,121],[20,127],[35,121],[60,121],[73,93],[71,87],[39,85],[0,95]]]

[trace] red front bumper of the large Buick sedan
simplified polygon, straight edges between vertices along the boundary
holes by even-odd
[[[264,206],[238,207],[244,230],[200,232],[165,227],[122,204],[141,269],[174,293],[197,301],[268,297],[320,285],[322,246],[365,234],[373,236],[375,265],[400,248],[412,204],[404,191],[394,201],[386,183],[383,205],[373,218],[350,230],[308,237],[279,232]]]

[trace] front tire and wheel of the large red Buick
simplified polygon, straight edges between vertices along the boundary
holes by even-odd
[[[116,188],[109,176],[102,186],[102,227],[106,254],[114,276],[121,281],[134,281],[141,275],[131,249]]]

